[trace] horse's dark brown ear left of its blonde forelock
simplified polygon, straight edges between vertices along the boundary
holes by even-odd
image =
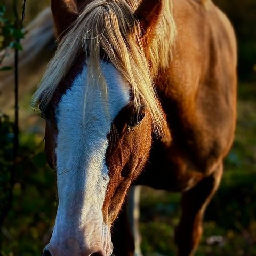
[[[79,15],[77,4],[75,0],[52,0],[51,8],[55,33],[60,41]]]

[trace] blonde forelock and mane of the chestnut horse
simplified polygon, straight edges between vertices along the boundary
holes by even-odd
[[[107,85],[101,75],[100,63],[103,54],[130,84],[135,108],[139,109],[141,102],[147,105],[154,130],[161,133],[165,120],[153,80],[159,68],[167,67],[171,58],[175,36],[172,2],[164,1],[162,17],[147,57],[140,38],[140,23],[133,15],[139,2],[94,0],[88,4],[59,44],[31,105],[35,108],[41,104],[41,109],[47,106],[58,84],[82,51],[88,67],[87,83],[100,85],[106,100]]]

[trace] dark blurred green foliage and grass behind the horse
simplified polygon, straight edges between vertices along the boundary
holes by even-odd
[[[25,22],[49,6],[49,2],[28,0]],[[234,146],[225,163],[226,172],[207,209],[205,233],[196,255],[253,256],[256,255],[256,1],[214,2],[230,17],[238,38],[238,121]],[[21,10],[22,1],[18,3]],[[12,47],[11,42],[22,35],[11,29],[14,24],[12,1],[0,0],[0,4],[6,7],[5,14],[0,8],[0,48]],[[21,105],[31,111],[29,95],[21,99]],[[0,115],[0,211],[12,166],[13,123],[10,119]],[[40,255],[51,235],[56,211],[55,178],[46,165],[43,148],[42,134],[21,129],[13,204],[0,230],[3,256]],[[179,199],[179,194],[143,188],[140,229],[142,250],[146,255],[174,255]]]

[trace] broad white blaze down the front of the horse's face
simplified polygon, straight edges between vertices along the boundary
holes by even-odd
[[[114,118],[129,103],[130,94],[113,65],[102,62],[102,70],[108,86],[109,113],[100,86],[86,83],[86,66],[57,107],[59,206],[51,242],[68,239],[73,246],[76,243],[77,250],[97,243],[109,253],[110,231],[102,217],[109,182],[107,135]]]

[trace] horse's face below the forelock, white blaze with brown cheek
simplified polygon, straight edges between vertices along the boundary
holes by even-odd
[[[56,169],[59,199],[47,246],[52,255],[109,255],[111,223],[148,159],[152,129],[147,107],[134,112],[129,84],[113,65],[102,65],[107,108],[99,87],[85,84],[82,64],[72,82],[69,78],[59,86],[44,113],[46,155]]]

